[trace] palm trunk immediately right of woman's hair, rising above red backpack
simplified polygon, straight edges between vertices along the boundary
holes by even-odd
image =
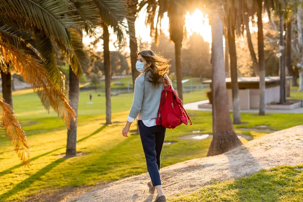
[[[182,47],[182,40],[181,41],[174,41],[175,42],[175,59],[176,59],[176,77],[177,77],[177,89],[178,89],[178,96],[181,100],[183,100],[183,87],[182,87],[182,67],[181,67],[181,47]]]

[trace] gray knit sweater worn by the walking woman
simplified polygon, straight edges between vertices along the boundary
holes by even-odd
[[[146,77],[145,74],[147,74]],[[147,71],[136,78],[133,104],[128,114],[130,117],[136,118],[139,113],[141,113],[142,120],[153,119],[158,116],[161,92],[164,89],[164,84],[161,83],[158,87],[153,88],[153,84],[147,81],[150,74],[151,73]]]

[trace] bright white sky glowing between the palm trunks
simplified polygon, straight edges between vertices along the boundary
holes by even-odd
[[[146,17],[146,10],[143,8],[139,12],[138,17],[135,21],[136,37],[141,38],[141,41],[151,43],[152,39],[149,35],[150,27],[145,25],[145,17]],[[156,22],[155,22],[155,26],[156,26]],[[212,42],[211,26],[209,25],[208,16],[201,13],[198,9],[196,9],[191,15],[187,12],[187,14],[185,15],[185,26],[186,26],[187,36],[191,36],[195,32],[203,36],[204,40],[208,41],[209,43]],[[169,37],[169,18],[167,17],[167,13],[164,14],[161,28],[162,28],[162,34]],[[110,29],[110,33],[111,33],[110,40],[116,41],[117,37],[115,34],[113,34],[112,29]],[[84,45],[89,45],[90,41],[94,41],[94,40],[95,38],[89,38],[88,36],[83,34]],[[96,51],[103,51],[103,40],[100,40],[100,42],[97,43]],[[110,43],[110,51],[117,51],[113,43]],[[125,51],[129,52],[129,47],[126,47]]]

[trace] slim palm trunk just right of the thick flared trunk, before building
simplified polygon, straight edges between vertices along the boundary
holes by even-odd
[[[230,20],[228,20],[230,22]],[[233,106],[233,123],[241,123],[240,115],[240,97],[238,85],[238,69],[237,69],[237,53],[235,43],[235,27],[228,23],[228,46],[230,56],[230,77],[231,77],[231,91],[232,91],[232,106]]]

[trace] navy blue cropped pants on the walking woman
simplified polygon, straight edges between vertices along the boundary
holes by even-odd
[[[161,164],[160,155],[166,128],[161,125],[147,127],[142,120],[138,121],[138,126],[151,182],[153,182],[153,186],[161,185],[159,173]]]

